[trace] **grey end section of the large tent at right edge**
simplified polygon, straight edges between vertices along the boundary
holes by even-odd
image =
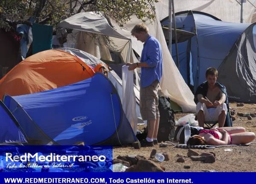
[[[218,68],[219,81],[228,91],[229,99],[256,102],[256,33],[251,24],[233,45]]]

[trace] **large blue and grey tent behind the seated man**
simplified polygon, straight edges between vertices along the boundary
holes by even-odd
[[[256,102],[255,24],[224,22],[200,11],[177,12],[175,20],[177,29],[195,33],[178,43],[179,69],[186,83],[195,90],[206,80],[206,69],[215,67],[231,100]],[[168,25],[168,17],[161,24]],[[172,58],[177,62],[175,44]]]

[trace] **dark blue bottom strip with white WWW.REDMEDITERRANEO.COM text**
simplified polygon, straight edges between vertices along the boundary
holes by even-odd
[[[256,173],[0,173],[0,183],[47,184],[247,184]]]

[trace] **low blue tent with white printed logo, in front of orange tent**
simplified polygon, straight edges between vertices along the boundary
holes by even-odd
[[[136,141],[116,89],[104,75],[4,103],[29,139],[40,144],[117,145]]]

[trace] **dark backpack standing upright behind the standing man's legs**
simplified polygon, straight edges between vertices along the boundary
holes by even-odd
[[[170,98],[159,97],[158,109],[160,122],[157,132],[157,141],[171,141],[175,135],[174,111],[171,109]]]

